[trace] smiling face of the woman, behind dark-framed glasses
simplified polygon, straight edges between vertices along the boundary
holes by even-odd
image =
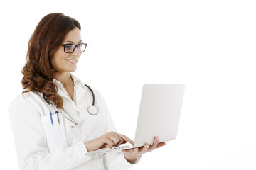
[[[75,27],[73,30],[70,30],[65,36],[63,45],[78,45],[81,42],[82,40],[80,30]],[[75,48],[75,51],[73,53],[65,53],[64,47],[60,46],[54,52],[53,57],[51,58],[51,63],[53,64],[53,67],[57,69],[58,74],[63,72],[74,72],[77,68],[77,63],[80,55],[81,53],[78,52],[78,48]]]

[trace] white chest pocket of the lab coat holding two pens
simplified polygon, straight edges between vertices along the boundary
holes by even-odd
[[[58,114],[41,116],[49,149],[68,146],[63,116]]]

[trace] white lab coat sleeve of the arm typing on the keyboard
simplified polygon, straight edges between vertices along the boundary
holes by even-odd
[[[56,147],[49,152],[46,135],[37,109],[20,95],[9,107],[18,164],[23,170],[68,170],[75,164],[90,160],[83,142],[70,147]]]

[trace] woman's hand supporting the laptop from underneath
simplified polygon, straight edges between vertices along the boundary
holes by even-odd
[[[164,145],[166,145],[165,142],[159,143],[159,137],[155,137],[154,143],[151,146],[149,144],[146,144],[144,145],[144,147],[135,147],[134,149],[122,150],[122,152],[124,152],[125,159],[127,159],[128,162],[132,163],[136,161],[137,158],[142,154],[145,154],[146,152],[151,152],[152,150],[163,147]]]

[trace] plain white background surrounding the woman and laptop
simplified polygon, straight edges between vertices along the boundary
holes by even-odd
[[[142,84],[186,84],[177,139],[132,169],[256,169],[254,1],[4,1],[0,8],[2,167],[18,169],[8,106],[22,90],[28,40],[43,16],[60,12],[80,21],[88,43],[74,74],[102,92],[120,133],[134,137]]]

